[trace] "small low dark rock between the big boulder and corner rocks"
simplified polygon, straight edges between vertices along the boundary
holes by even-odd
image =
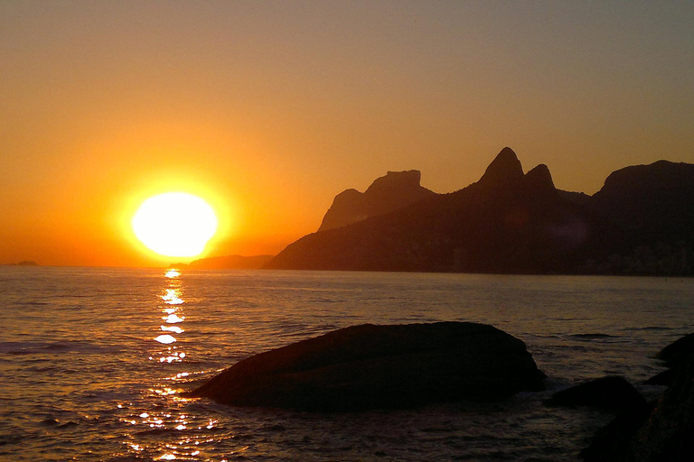
[[[547,404],[625,411],[642,409],[646,406],[646,400],[624,377],[606,376],[555,393]]]

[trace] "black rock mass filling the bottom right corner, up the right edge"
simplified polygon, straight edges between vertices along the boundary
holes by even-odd
[[[666,347],[676,357],[670,387],[645,411],[634,409],[598,431],[582,451],[588,462],[684,462],[694,460],[694,345],[692,336]],[[666,359],[667,360],[667,359]]]

